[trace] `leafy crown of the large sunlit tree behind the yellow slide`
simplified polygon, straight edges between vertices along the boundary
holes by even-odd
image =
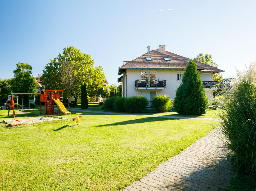
[[[70,89],[70,96],[74,96],[75,100],[81,97],[81,84],[87,84],[87,93],[91,97],[101,96],[101,90],[105,75],[101,66],[94,67],[94,61],[90,55],[82,53],[75,47],[65,47],[63,54],[59,54],[57,58],[50,60],[44,70],[41,80],[46,89],[64,89],[60,80],[60,62],[61,60],[70,60],[76,68],[74,75],[76,79]],[[103,93],[102,93],[103,94]]]

